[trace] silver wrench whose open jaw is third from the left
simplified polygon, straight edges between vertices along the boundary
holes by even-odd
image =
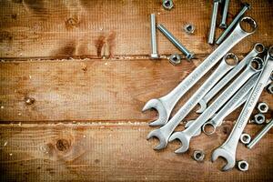
[[[256,65],[256,66],[253,66]],[[176,132],[172,136],[169,137],[169,141],[173,141],[175,139],[179,139],[182,143],[182,147],[178,148],[176,153],[184,153],[187,151],[189,147],[189,141],[192,136],[195,136],[197,130],[206,123],[207,119],[213,116],[221,106],[223,106],[227,100],[233,96],[236,91],[247,82],[250,76],[254,74],[258,74],[261,71],[263,66],[263,60],[259,57],[254,57],[249,63],[248,67],[244,70],[242,74],[240,74],[234,82],[227,89],[217,97],[217,99],[207,107],[207,109],[202,113],[202,115],[197,117],[196,122],[194,122],[191,126],[188,126],[184,131]]]

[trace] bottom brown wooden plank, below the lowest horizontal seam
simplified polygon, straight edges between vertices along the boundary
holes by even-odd
[[[248,161],[248,172],[221,172],[225,162],[210,162],[211,152],[231,129],[227,122],[212,136],[193,139],[189,151],[176,155],[178,143],[154,151],[147,141],[152,129],[139,123],[121,125],[0,126],[1,181],[272,181],[272,130],[252,150],[238,145],[238,159]],[[260,126],[248,126],[255,136]],[[206,153],[204,162],[193,151]]]

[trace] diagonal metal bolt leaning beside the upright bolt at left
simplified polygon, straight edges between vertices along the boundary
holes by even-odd
[[[165,35],[165,36],[167,37],[167,39],[168,39],[171,43],[173,43],[173,45],[176,45],[177,48],[178,48],[183,54],[186,55],[187,60],[190,60],[191,58],[193,58],[194,54],[191,53],[191,52],[189,52],[189,51],[187,50],[187,48],[186,48],[184,45],[182,45],[182,44],[177,40],[177,38],[176,38],[174,35],[172,35],[172,34],[167,30],[167,28],[166,28],[164,25],[158,24],[158,25],[157,25],[157,28],[160,30],[160,32],[161,32],[163,35]]]

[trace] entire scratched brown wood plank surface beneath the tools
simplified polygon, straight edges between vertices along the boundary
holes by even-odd
[[[173,153],[177,142],[157,152],[157,140],[146,140],[153,129],[147,123],[157,118],[152,110],[141,113],[147,100],[167,94],[215,48],[207,44],[210,1],[175,1],[171,11],[160,2],[0,0],[1,181],[273,180],[272,131],[252,150],[239,144],[237,159],[248,160],[248,172],[223,173],[224,160],[210,162],[239,109],[216,134],[194,138],[185,155]],[[232,49],[240,58],[257,42],[273,44],[272,2],[248,3],[258,30]],[[231,1],[228,22],[239,9]],[[178,51],[158,32],[163,58],[148,59],[153,12],[197,58],[170,65],[164,57]],[[188,22],[194,35],[182,31]],[[272,95],[263,92],[260,100],[269,119]],[[246,132],[255,136],[260,128],[249,124]],[[196,149],[206,152],[204,162],[192,159]]]

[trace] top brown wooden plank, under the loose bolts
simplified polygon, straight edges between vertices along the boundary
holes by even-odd
[[[247,15],[257,20],[258,31],[240,43],[234,52],[247,53],[250,45],[272,45],[271,3],[248,1]],[[0,57],[123,57],[150,54],[149,15],[157,13],[157,22],[166,25],[197,56],[208,54],[207,32],[210,1],[175,2],[166,11],[161,1],[0,1]],[[228,22],[238,13],[240,4],[230,3]],[[195,35],[187,35],[182,26],[196,26]],[[217,35],[220,33],[217,30]],[[158,33],[161,55],[177,52]]]

